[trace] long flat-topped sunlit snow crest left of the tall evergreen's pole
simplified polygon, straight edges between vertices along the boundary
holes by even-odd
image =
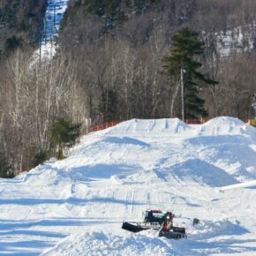
[[[109,129],[105,134],[108,135],[157,135],[157,134],[177,134],[192,131],[192,127],[184,124],[178,118],[163,119],[132,119],[130,121],[117,124],[117,126]]]

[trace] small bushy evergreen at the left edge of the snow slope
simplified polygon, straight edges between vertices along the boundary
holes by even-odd
[[[64,158],[64,148],[72,147],[76,139],[80,135],[81,124],[72,124],[70,120],[64,118],[56,119],[52,125],[51,132],[51,147],[57,150],[57,159]]]

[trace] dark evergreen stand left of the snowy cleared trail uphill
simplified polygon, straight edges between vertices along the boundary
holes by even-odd
[[[46,4],[46,0],[1,0],[0,59],[15,49],[38,45]]]

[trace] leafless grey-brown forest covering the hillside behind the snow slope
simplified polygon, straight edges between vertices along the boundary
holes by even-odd
[[[254,0],[70,0],[56,56],[32,65],[45,4],[0,3],[0,172],[33,168],[58,118],[81,130],[89,118],[181,118],[179,81],[164,60],[184,27],[203,43],[199,72],[216,81],[193,86],[203,111],[192,113],[184,92],[184,118],[253,116]]]

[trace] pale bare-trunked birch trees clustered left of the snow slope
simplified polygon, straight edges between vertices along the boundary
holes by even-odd
[[[31,169],[41,152],[58,148],[60,158],[63,146],[52,138],[53,125],[60,117],[73,124],[87,117],[75,64],[68,56],[32,64],[29,54],[17,50],[1,66],[1,78],[1,154],[14,174]]]

